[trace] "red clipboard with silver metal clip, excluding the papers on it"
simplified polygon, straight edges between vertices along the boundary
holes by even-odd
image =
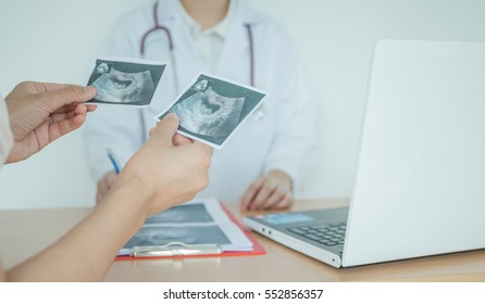
[[[245,233],[251,241],[251,251],[223,251],[219,244],[185,244],[182,242],[171,242],[165,245],[132,248],[130,255],[119,255],[115,261],[135,261],[145,258],[192,258],[192,257],[216,257],[216,256],[244,256],[244,255],[263,255],[266,251],[254,239],[251,232],[246,229],[239,220],[221,204],[222,210],[227,217]]]

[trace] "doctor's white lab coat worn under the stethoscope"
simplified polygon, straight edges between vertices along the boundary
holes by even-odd
[[[178,15],[178,0],[161,0],[159,23],[170,28],[174,45],[176,77],[181,90],[202,69],[189,29]],[[220,62],[212,74],[238,83],[250,83],[249,39],[244,24],[251,24],[254,48],[256,87],[269,92],[264,116],[248,119],[222,150],[215,150],[209,172],[210,185],[199,197],[239,200],[258,176],[286,172],[295,190],[308,168],[315,164],[315,109],[311,89],[283,26],[238,1],[228,27]],[[115,25],[101,55],[140,58],[142,35],[153,27],[153,5],[124,15]],[[167,38],[158,30],[147,39],[145,59],[169,62],[149,109],[98,106],[84,127],[84,142],[96,180],[112,170],[105,149],[124,164],[154,126],[156,114],[178,96],[174,89],[174,66],[170,64]],[[163,157],[163,155],[161,155]],[[298,192],[297,192],[298,193]]]

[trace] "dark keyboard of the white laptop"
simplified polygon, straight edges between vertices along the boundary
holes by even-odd
[[[300,226],[286,228],[300,237],[327,246],[344,244],[346,223],[323,224],[318,226]]]

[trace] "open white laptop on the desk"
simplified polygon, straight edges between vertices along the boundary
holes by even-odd
[[[382,40],[349,207],[244,217],[334,267],[485,248],[485,42]]]

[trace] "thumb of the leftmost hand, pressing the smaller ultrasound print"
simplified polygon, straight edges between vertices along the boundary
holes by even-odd
[[[71,104],[73,102],[86,102],[94,99],[96,88],[69,85],[62,89],[40,93],[40,100],[48,105],[50,111]]]

